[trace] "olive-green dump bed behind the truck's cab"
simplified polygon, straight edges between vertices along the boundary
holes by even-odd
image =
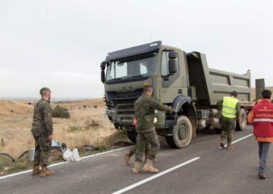
[[[188,63],[189,87],[195,88],[196,102],[216,105],[217,100],[238,92],[241,103],[250,103],[250,70],[247,74],[234,74],[208,68],[205,54],[191,52],[186,54]]]

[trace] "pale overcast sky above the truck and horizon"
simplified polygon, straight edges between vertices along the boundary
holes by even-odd
[[[99,98],[108,52],[152,41],[273,86],[273,1],[0,0],[0,97]]]

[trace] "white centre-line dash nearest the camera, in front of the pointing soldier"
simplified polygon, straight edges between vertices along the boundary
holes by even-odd
[[[173,167],[170,168],[170,169],[167,169],[167,170],[165,170],[165,171],[163,171],[163,172],[161,172],[161,173],[158,173],[158,174],[156,174],[156,175],[153,175],[153,176],[151,176],[151,177],[148,177],[148,178],[146,178],[145,180],[141,180],[140,182],[136,182],[135,184],[132,184],[132,185],[130,185],[130,186],[127,186],[127,187],[125,187],[125,188],[122,188],[121,190],[116,191],[116,192],[114,192],[114,193],[112,193],[112,194],[120,194],[120,193],[124,193],[125,191],[129,191],[129,190],[131,190],[132,188],[135,188],[136,186],[139,186],[139,185],[141,185],[141,184],[144,184],[145,182],[149,182],[150,180],[154,180],[154,179],[157,178],[157,177],[160,177],[160,176],[162,176],[162,175],[165,175],[165,174],[167,174],[167,173],[170,173],[171,171],[174,171],[174,170],[176,170],[176,169],[179,169],[180,167],[185,166],[185,165],[187,165],[187,164],[190,164],[191,162],[194,162],[194,161],[199,160],[199,159],[200,159],[200,157],[192,158],[192,160],[188,160],[187,162],[183,162],[183,163],[181,163],[181,164],[179,164],[179,165],[177,165],[177,166],[173,166]]]

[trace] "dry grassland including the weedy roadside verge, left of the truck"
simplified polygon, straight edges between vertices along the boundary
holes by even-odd
[[[29,100],[0,100],[0,153],[7,153],[16,161],[5,161],[0,155],[0,176],[32,168],[32,162],[17,159],[21,153],[34,147],[30,132],[34,103]],[[114,129],[104,116],[103,99],[61,101],[51,105],[53,110],[57,110],[57,114],[63,111],[70,114],[69,119],[53,118],[54,140],[65,143],[70,150],[77,148],[81,156],[132,144],[126,134]],[[94,147],[94,150],[87,147]],[[63,161],[62,153],[52,151],[50,163],[59,161]]]

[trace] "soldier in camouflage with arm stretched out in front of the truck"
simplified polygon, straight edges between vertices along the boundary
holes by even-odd
[[[152,98],[152,92],[152,87],[145,85],[142,96],[134,102],[134,114],[137,120],[137,138],[136,162],[134,162],[134,169],[132,169],[133,173],[140,173],[143,170],[152,173],[158,172],[158,169],[154,169],[153,166],[154,158],[160,147],[159,138],[154,129],[154,109],[171,113],[172,108],[156,102],[156,100]],[[146,144],[150,144],[150,147],[148,147],[147,161],[143,169],[141,169],[142,155]]]

